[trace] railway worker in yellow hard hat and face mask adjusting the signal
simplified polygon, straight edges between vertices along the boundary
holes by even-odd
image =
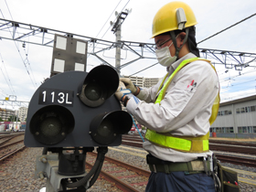
[[[149,89],[121,78],[115,92],[147,127],[143,146],[152,171],[147,192],[215,191],[208,136],[219,110],[219,79],[208,60],[198,59],[196,24],[187,4],[164,5],[152,33],[156,58],[167,69],[165,78]]]

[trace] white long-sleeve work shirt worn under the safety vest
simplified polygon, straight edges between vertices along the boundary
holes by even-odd
[[[196,56],[188,53],[178,59],[171,65],[168,76],[183,60],[191,58]],[[137,97],[133,96],[127,102],[127,111],[133,114],[139,123],[158,133],[177,136],[200,136],[208,133],[212,104],[219,92],[218,76],[210,64],[197,60],[180,69],[159,105],[155,104],[155,100],[162,80],[149,89],[141,90]],[[144,142],[143,146],[155,157],[172,162],[187,162],[198,156],[212,155],[210,151],[200,154],[183,153],[149,141]]]

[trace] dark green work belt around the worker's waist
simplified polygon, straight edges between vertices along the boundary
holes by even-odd
[[[184,171],[188,174],[207,173],[210,171],[209,162],[200,158],[189,162],[166,162],[147,155],[147,163],[152,172],[170,174],[171,172]]]

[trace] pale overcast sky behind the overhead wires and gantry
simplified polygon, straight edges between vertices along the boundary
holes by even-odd
[[[154,43],[153,39],[150,39],[153,18],[157,10],[168,2],[170,1],[0,0],[0,17],[86,37],[115,41],[110,21],[115,19],[114,11],[121,12],[128,8],[132,9],[132,13],[123,22],[122,40]],[[191,6],[197,17],[197,42],[256,12],[254,0],[187,0],[184,2]],[[252,16],[218,36],[200,43],[198,48],[255,53],[255,30],[256,16]],[[1,33],[0,31],[0,37]],[[17,101],[29,101],[41,81],[49,77],[52,48],[32,44],[27,44],[26,48],[23,48],[20,42],[15,44],[14,41],[2,39],[0,54],[0,100],[9,95],[16,95]],[[126,52],[122,54],[122,62],[125,63]],[[129,57],[129,54],[127,56]],[[108,52],[105,52],[102,57],[108,57]],[[114,66],[114,59],[110,59],[110,62]],[[123,68],[122,75],[131,75],[155,62],[156,59],[142,59]],[[100,64],[100,60],[91,56],[88,59],[87,69],[89,71]],[[252,62],[251,66],[255,66],[255,62]],[[217,65],[216,68],[219,73],[222,101],[256,93],[255,67],[241,71],[225,69],[221,65]],[[165,68],[159,64],[136,74],[136,76],[147,78],[161,78],[164,75]]]

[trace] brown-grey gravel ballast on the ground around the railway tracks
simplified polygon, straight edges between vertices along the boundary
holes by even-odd
[[[129,146],[127,146],[129,147]],[[117,149],[122,149],[123,151],[128,151],[127,148],[114,147]],[[141,148],[133,147],[133,149],[143,150]],[[138,153],[145,155],[143,152],[131,150],[133,153]],[[38,192],[40,188],[46,187],[46,178],[40,180],[39,178],[34,178],[34,170],[36,163],[36,156],[42,154],[42,148],[26,148],[22,152],[8,158],[0,165],[0,191],[1,192],[17,192],[17,191],[29,191]],[[122,160],[125,163],[142,167],[148,170],[144,157],[129,155],[127,153],[122,153],[109,149],[107,156]],[[241,165],[231,165],[222,164],[229,166],[231,168],[242,169],[250,172],[256,173],[256,168],[241,166]],[[242,175],[242,177],[247,177],[250,179],[251,176]],[[88,190],[91,192],[97,191],[116,191],[121,190],[114,186],[114,184],[103,180],[101,177],[96,181],[96,183]],[[256,192],[256,186],[251,186],[240,182],[241,192]]]

